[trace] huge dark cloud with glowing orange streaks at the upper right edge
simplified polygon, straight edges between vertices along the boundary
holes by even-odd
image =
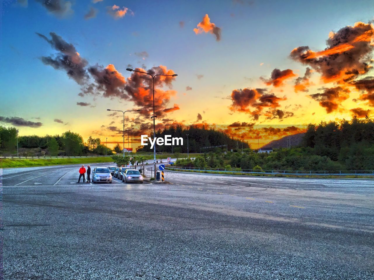
[[[369,71],[373,35],[373,25],[356,22],[335,33],[330,32],[325,50],[313,52],[308,46],[302,46],[293,49],[290,56],[315,69],[325,83],[345,83]]]

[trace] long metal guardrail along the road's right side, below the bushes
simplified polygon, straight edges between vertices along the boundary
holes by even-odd
[[[168,170],[196,172],[207,174],[279,176],[279,177],[367,177],[374,178],[374,170],[257,170],[257,169],[230,169],[230,168],[194,168],[167,165]]]

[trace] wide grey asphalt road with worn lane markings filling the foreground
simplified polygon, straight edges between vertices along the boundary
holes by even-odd
[[[4,279],[374,279],[374,181],[78,167],[4,171]]]

